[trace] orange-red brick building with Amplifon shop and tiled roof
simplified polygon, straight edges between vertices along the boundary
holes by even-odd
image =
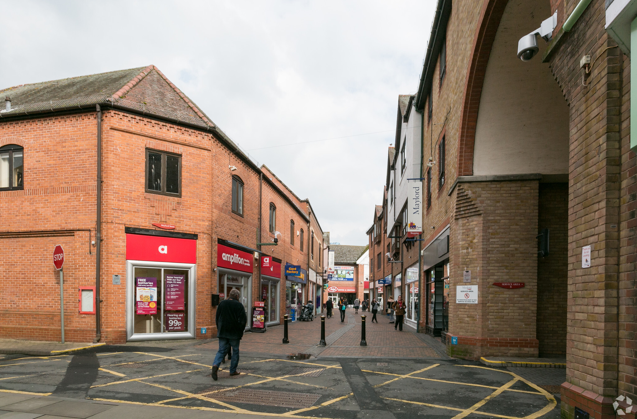
[[[233,288],[270,325],[306,301],[307,279],[282,266],[310,269],[309,201],[290,199],[159,69],[1,92],[0,336],[60,339],[55,245],[69,341],[212,337],[211,298]]]

